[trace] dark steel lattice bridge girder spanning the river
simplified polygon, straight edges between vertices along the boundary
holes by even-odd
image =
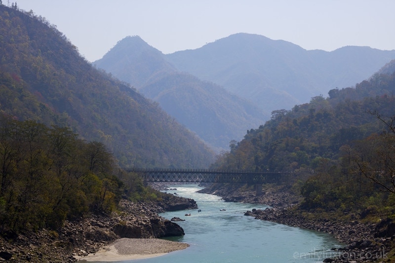
[[[288,174],[212,169],[126,168],[125,170],[137,173],[145,182],[266,184],[282,181],[283,176]]]

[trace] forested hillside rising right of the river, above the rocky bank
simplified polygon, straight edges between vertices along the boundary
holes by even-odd
[[[375,74],[327,99],[273,111],[212,167],[289,172],[284,179],[307,209],[394,213],[394,92],[394,72]]]

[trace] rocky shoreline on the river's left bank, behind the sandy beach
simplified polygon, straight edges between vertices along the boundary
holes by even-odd
[[[134,203],[121,200],[111,215],[91,215],[66,221],[57,231],[4,233],[0,237],[0,261],[72,263],[99,251],[119,238],[158,238],[183,235],[176,223],[158,216],[171,209],[196,208],[193,199],[167,195],[160,202]],[[168,210],[170,209],[170,210]]]

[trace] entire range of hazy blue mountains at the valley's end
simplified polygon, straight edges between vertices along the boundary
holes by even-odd
[[[93,65],[157,101],[218,152],[269,120],[272,111],[352,86],[393,58],[395,50],[307,51],[284,40],[237,33],[167,55],[129,36]]]

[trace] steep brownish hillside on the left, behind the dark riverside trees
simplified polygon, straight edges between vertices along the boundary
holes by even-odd
[[[68,126],[122,166],[204,168],[214,153],[133,88],[95,69],[33,11],[0,6],[0,113]]]

